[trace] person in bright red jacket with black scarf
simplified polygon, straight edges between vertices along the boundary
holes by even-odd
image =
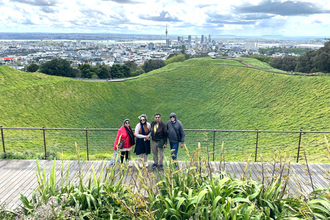
[[[117,151],[117,146],[119,142],[119,137],[121,140],[125,140],[122,149],[120,150],[120,161],[123,163],[124,158],[126,159],[126,162],[129,162],[129,151],[131,151],[132,146],[135,144],[134,139],[134,133],[131,129],[131,126],[129,126],[129,119],[124,120],[124,124],[120,127],[117,133],[117,137],[115,137],[115,145],[113,146],[115,148],[115,152]],[[131,164],[129,164],[131,167]]]

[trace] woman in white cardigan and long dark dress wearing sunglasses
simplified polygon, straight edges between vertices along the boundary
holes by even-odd
[[[146,122],[146,115],[139,116],[140,123],[135,126],[136,145],[134,153],[139,156],[139,163],[142,162],[148,167],[148,154],[150,153],[151,124]]]

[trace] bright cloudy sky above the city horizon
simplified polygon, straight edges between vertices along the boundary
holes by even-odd
[[[330,1],[0,0],[0,32],[330,36]]]

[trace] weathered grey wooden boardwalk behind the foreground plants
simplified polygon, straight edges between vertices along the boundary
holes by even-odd
[[[105,162],[105,167],[107,167],[107,163]],[[39,164],[41,169],[45,166],[45,171],[49,175],[52,165],[54,161],[50,160],[40,160]],[[102,170],[104,162],[103,161],[85,161],[80,162],[81,169],[85,175],[83,181],[87,184],[88,176],[92,175],[92,165],[96,172],[96,175],[100,175],[100,171]],[[153,162],[148,162],[148,172],[153,172],[155,177],[157,177],[157,168],[151,168],[151,164]],[[67,166],[69,166],[69,177],[74,180],[78,170],[77,161],[65,161],[63,176],[65,177],[67,172]],[[210,162],[210,166],[214,168],[214,173],[219,173],[220,166],[219,162]],[[56,161],[56,176],[57,181],[61,181],[61,161]],[[184,168],[186,166],[186,162],[179,162],[179,167]],[[325,171],[330,170],[330,164],[309,164],[309,170],[312,173],[310,179],[309,175],[307,175],[307,166],[299,163],[290,164],[289,169],[289,192],[297,193],[297,184],[296,184],[296,175],[299,179],[300,185],[303,188],[303,192],[308,193],[312,190],[311,181],[313,181],[315,188],[325,188],[328,186],[330,181],[325,178]],[[276,164],[275,173],[278,173],[279,164]],[[117,168],[118,169],[118,168]],[[230,174],[232,177],[237,177],[240,179],[242,176],[247,178],[252,178],[256,181],[260,181],[262,176],[264,175],[266,181],[270,181],[272,178],[272,172],[274,170],[274,164],[264,164],[264,172],[261,170],[261,163],[250,163],[246,165],[244,162],[226,162],[225,164],[221,164],[221,170],[225,170],[226,173]],[[287,173],[287,165],[285,166],[284,173]],[[294,172],[293,172],[294,170]],[[104,168],[104,175],[107,170]],[[132,173],[137,173],[137,168],[135,166],[132,167]],[[294,175],[296,173],[296,175]],[[133,175],[126,175],[124,177],[124,184],[130,187],[134,187],[131,185]],[[8,208],[14,208],[20,201],[18,198],[20,197],[20,193],[27,196],[31,199],[32,189],[36,188],[38,185],[36,179],[36,160],[34,159],[0,159],[0,204],[7,204]]]

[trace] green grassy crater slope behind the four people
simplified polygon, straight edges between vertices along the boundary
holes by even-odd
[[[242,60],[271,68],[254,59]],[[239,61],[194,58],[146,75],[162,72],[159,74],[113,83],[25,73],[0,66],[0,126],[118,129],[125,118],[135,127],[137,116],[142,113],[151,122],[154,113],[159,112],[166,122],[174,111],[185,129],[330,131],[330,78],[288,76],[214,63],[242,65]],[[8,147],[12,142],[18,143],[22,151],[33,151],[32,135],[21,142],[9,135],[5,131],[5,138],[11,138],[7,139]],[[63,143],[54,137],[49,146],[73,147],[74,142],[80,142],[74,140],[75,135],[64,136]],[[212,134],[208,136],[212,139]],[[109,151],[113,135],[100,138],[107,142],[102,151]],[[203,133],[187,136],[187,146],[195,148],[203,138]],[[276,149],[296,154],[298,137],[294,135],[264,135],[261,140],[261,153],[265,155],[274,155]],[[254,153],[255,134],[219,134],[217,148],[222,141],[232,161],[242,160],[250,151]],[[83,144],[81,141],[78,145]],[[315,162],[322,159],[324,135],[316,135],[303,145]],[[186,158],[184,153],[181,158]]]

